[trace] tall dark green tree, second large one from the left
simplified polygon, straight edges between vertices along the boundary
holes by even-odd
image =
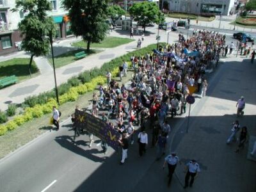
[[[101,42],[108,33],[109,26],[104,17],[107,4],[108,0],[63,0],[71,30],[87,42],[87,51],[90,50],[90,44]]]

